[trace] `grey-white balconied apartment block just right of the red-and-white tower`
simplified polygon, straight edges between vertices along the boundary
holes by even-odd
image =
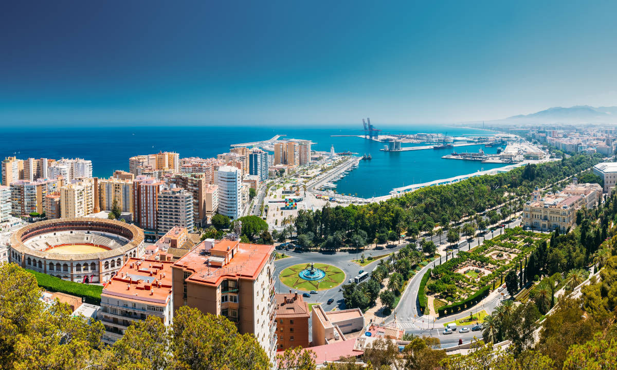
[[[193,232],[193,195],[181,187],[172,187],[159,192],[157,205],[158,234],[165,235],[174,226]]]

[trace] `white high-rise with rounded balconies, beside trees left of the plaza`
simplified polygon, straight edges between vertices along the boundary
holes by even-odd
[[[239,168],[222,166],[217,170],[218,185],[218,213],[230,217],[232,220],[239,218],[242,209],[240,194],[241,173]]]

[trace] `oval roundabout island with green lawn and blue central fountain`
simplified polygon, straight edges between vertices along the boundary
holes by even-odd
[[[291,289],[327,290],[342,284],[345,273],[336,266],[325,263],[300,263],[281,271],[281,282]]]

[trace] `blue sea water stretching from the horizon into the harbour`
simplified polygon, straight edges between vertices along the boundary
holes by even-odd
[[[361,128],[362,126],[360,126]],[[380,127],[391,133],[491,134],[489,131],[440,126],[409,126],[407,128]],[[449,178],[466,173],[500,167],[499,164],[442,159],[452,149],[383,152],[384,144],[355,137],[331,135],[361,134],[355,128],[260,128],[260,127],[125,127],[125,128],[5,128],[0,140],[0,156],[18,158],[70,158],[92,160],[94,176],[108,177],[114,170],[128,170],[128,158],[151,154],[159,150],[176,151],[180,157],[213,157],[228,152],[230,144],[270,139],[275,134],[286,138],[310,139],[317,142],[314,150],[371,154],[372,160],[360,166],[337,183],[337,191],[373,197],[388,194],[394,187]],[[11,138],[8,140],[7,138]],[[413,144],[403,144],[411,146]],[[497,148],[465,146],[458,152],[496,152]]]

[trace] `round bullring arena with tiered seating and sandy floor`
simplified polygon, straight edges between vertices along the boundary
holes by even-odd
[[[30,224],[10,239],[11,262],[64,280],[107,282],[129,257],[144,254],[137,226],[97,218],[59,218]]]

